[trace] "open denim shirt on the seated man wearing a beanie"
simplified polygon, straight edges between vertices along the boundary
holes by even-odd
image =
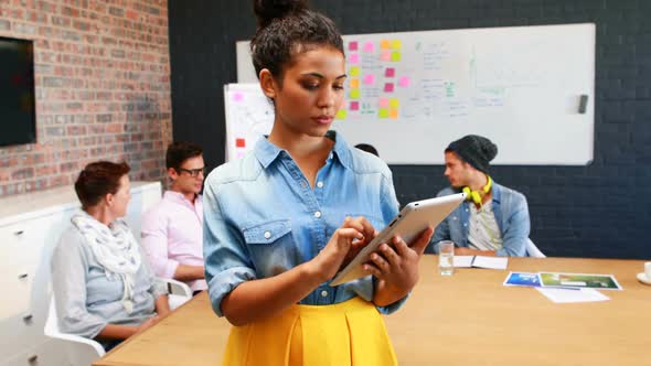
[[[457,193],[452,189],[445,189],[437,196]],[[469,201],[463,201],[434,232],[431,240],[425,250],[428,254],[438,252],[436,244],[440,240],[452,240],[457,247],[468,247],[468,229],[470,219]],[[493,183],[492,206],[495,220],[502,236],[502,248],[497,251],[500,257],[525,257],[529,239],[530,222],[526,198],[520,192]]]

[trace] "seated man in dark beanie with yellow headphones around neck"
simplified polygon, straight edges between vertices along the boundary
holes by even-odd
[[[498,147],[489,139],[468,134],[445,151],[445,175],[451,187],[445,196],[466,192],[465,201],[436,228],[426,252],[438,252],[440,240],[455,241],[458,256],[526,256],[530,222],[526,198],[495,183],[489,175]]]

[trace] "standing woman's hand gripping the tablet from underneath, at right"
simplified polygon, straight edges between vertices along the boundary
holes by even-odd
[[[431,227],[425,229],[412,247],[401,237],[394,237],[395,250],[386,243],[381,245],[378,251],[373,252],[369,262],[364,263],[364,269],[389,287],[412,290],[418,282],[418,261],[433,234]]]

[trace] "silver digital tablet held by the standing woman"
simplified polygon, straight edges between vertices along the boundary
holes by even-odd
[[[463,200],[466,194],[457,193],[409,203],[391,224],[360,250],[348,266],[334,276],[330,286],[339,286],[369,276],[370,273],[362,269],[362,265],[369,261],[369,256],[377,251],[381,244],[388,244],[394,236],[399,235],[410,246],[423,230],[428,226],[436,228]]]

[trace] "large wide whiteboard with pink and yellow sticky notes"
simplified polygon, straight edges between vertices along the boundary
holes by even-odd
[[[389,164],[442,164],[449,142],[469,133],[498,144],[494,164],[588,164],[595,31],[580,23],[344,35],[345,100],[332,128]],[[238,82],[257,83],[248,42],[236,51]]]

